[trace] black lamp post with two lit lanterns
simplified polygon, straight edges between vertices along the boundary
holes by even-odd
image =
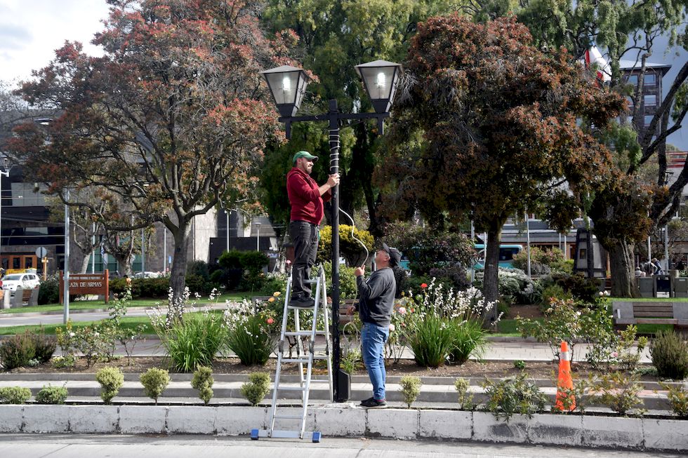
[[[339,123],[343,120],[376,119],[378,133],[384,131],[383,120],[390,116],[397,90],[402,66],[386,60],[376,60],[357,65],[356,71],[363,79],[366,92],[371,98],[375,113],[339,112],[336,100],[329,100],[329,112],[315,116],[294,116],[298,111],[310,78],[296,67],[284,65],[265,72],[267,86],[277,105],[277,110],[286,130],[286,138],[291,138],[291,123],[301,121],[328,121],[330,142],[330,174],[339,173]],[[339,187],[332,188],[332,363],[334,371],[334,400],[343,402],[350,396],[350,376],[340,369],[341,351],[339,346]]]

